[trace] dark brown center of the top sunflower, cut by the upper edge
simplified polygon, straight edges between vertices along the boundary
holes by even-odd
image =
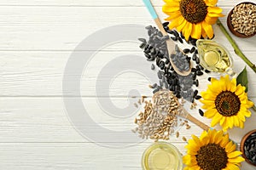
[[[184,19],[194,24],[207,16],[207,4],[203,0],[181,0],[179,8]]]

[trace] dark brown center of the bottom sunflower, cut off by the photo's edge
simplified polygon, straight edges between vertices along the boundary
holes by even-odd
[[[196,161],[202,170],[221,170],[226,167],[228,156],[219,144],[207,144],[197,152]]]

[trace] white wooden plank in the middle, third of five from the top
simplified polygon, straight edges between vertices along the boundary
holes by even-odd
[[[245,54],[255,63],[254,53]],[[157,69],[151,71],[152,62],[146,60],[142,51],[98,52],[86,65],[84,64],[84,71],[80,71],[80,75],[76,72],[77,65],[74,65],[72,71],[65,72],[66,65],[70,65],[70,62],[67,62],[70,55],[70,52],[2,52],[0,96],[78,96],[75,90],[79,90],[82,96],[125,97],[136,95],[135,91],[129,94],[131,90],[138,90],[142,95],[152,94],[148,84],[159,82]],[[84,52],[75,53],[75,56],[77,55],[81,55],[82,58],[86,56]],[[237,56],[234,59],[234,70],[239,72],[244,68],[245,63]],[[253,90],[256,88],[256,80],[253,78],[255,73],[248,67],[247,71],[248,95],[256,97],[256,92]],[[63,82],[64,75],[68,77],[67,82]],[[205,85],[209,83],[207,77],[215,76],[218,74],[198,77],[199,90],[207,88]],[[75,80],[80,80],[79,89],[74,86],[63,88],[63,83],[67,84]]]

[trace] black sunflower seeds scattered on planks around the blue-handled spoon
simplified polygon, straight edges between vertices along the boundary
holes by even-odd
[[[153,88],[153,93],[158,92],[160,89],[170,89],[178,99],[182,98],[194,103],[195,99],[201,99],[198,95],[198,90],[194,90],[193,86],[198,87],[198,76],[201,76],[210,71],[205,70],[200,65],[200,59],[198,57],[198,51],[195,46],[196,39],[189,37],[189,41],[186,41],[182,33],[178,33],[176,30],[169,30],[169,23],[163,23],[163,26],[169,36],[163,36],[163,34],[154,26],[147,26],[148,41],[144,38],[139,38],[141,43],[140,48],[143,48],[143,52],[148,61],[154,62],[160,69],[157,72],[159,83],[154,83],[150,86]],[[166,40],[171,38],[172,41],[178,41],[180,43],[186,42],[190,44],[191,48],[184,48],[180,51],[180,48],[176,46],[176,54],[169,56],[166,48]],[[190,57],[189,57],[190,55]],[[180,76],[174,71],[172,62],[177,66],[179,71],[188,71],[189,62],[192,61],[193,68],[188,76]],[[154,64],[151,65],[151,70],[155,69]]]

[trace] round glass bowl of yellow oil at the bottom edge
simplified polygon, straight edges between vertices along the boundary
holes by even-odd
[[[143,170],[182,170],[182,156],[174,145],[155,142],[144,151],[142,167]]]

